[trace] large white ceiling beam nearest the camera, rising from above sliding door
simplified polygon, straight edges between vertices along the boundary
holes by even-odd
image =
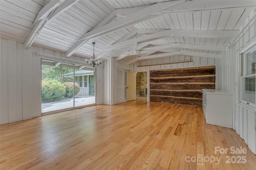
[[[169,8],[171,6],[176,6],[177,4],[180,4],[183,2],[185,2],[185,0],[159,2],[154,5],[150,5],[142,10],[134,12],[125,18],[120,18],[120,20],[117,20],[115,22],[106,24],[102,27],[93,29],[92,31],[89,31],[86,34],[84,34],[80,38],[80,40],[78,40],[78,42],[66,52],[66,56],[67,57],[71,56],[73,53],[75,53],[75,51],[79,47],[81,47],[84,43],[86,43],[87,41],[89,41],[92,38],[106,35],[108,33],[117,31],[119,29],[122,29],[122,28],[127,27],[132,24],[140,23],[145,20],[150,20],[150,19],[156,17],[156,16],[150,16],[150,14],[154,14],[155,12],[159,12],[159,11]]]

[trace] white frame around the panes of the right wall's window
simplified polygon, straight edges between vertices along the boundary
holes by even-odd
[[[243,79],[248,78],[248,77],[253,77],[256,78],[256,73],[254,74],[248,74],[246,75],[246,69],[247,69],[247,63],[246,63],[246,54],[256,51],[256,45],[253,45],[252,47],[246,49],[242,53],[240,53],[240,98],[239,101],[243,104],[246,104],[248,106],[256,107],[256,102],[255,104],[246,100],[243,100]],[[255,87],[256,89],[256,87]],[[256,101],[256,95],[255,95],[255,101]]]

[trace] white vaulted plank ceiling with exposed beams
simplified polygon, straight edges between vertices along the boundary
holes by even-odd
[[[90,57],[96,42],[96,57],[128,63],[218,59],[255,8],[256,0],[0,0],[0,36],[67,57]]]

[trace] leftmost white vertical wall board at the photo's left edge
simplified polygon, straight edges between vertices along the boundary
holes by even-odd
[[[0,115],[0,123],[8,123],[9,122],[9,115],[8,115],[8,40],[1,39],[1,115]]]

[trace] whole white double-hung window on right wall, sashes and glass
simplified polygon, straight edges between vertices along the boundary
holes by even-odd
[[[241,97],[240,102],[250,106],[255,105],[256,87],[256,48],[252,48],[241,54]]]

